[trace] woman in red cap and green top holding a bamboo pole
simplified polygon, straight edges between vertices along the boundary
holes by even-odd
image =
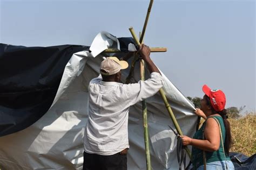
[[[234,169],[228,157],[232,139],[225,109],[225,94],[221,90],[211,90],[206,85],[203,86],[203,91],[205,95],[200,102],[201,108],[196,109],[195,112],[206,121],[194,134],[193,139],[181,136],[183,145],[192,145],[191,161],[194,169],[204,169],[204,160],[206,160],[207,170]],[[221,136],[224,147],[221,143]]]

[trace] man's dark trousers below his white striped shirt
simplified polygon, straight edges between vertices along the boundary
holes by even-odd
[[[98,155],[84,152],[83,170],[127,170],[127,154]]]

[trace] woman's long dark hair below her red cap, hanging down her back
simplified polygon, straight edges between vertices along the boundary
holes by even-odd
[[[231,129],[230,129],[230,122],[227,121],[227,110],[224,109],[222,111],[215,111],[211,105],[210,98],[205,95],[206,98],[206,103],[207,105],[211,106],[212,114],[219,114],[223,120],[224,120],[224,125],[225,125],[225,130],[226,130],[226,137],[224,141],[224,149],[227,155],[230,154],[230,148],[232,145],[232,136],[231,136]]]

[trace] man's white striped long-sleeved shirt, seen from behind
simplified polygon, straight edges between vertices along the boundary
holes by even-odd
[[[92,79],[89,84],[84,151],[112,155],[129,148],[130,106],[153,96],[163,84],[164,78],[156,72],[151,73],[150,79],[133,84],[104,82],[101,76]]]

